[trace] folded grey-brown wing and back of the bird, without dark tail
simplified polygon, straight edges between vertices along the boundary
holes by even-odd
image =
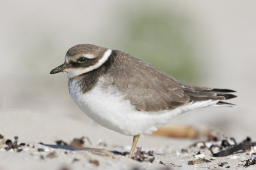
[[[111,64],[112,85],[140,111],[172,110],[189,102],[182,83],[151,64],[118,52]]]

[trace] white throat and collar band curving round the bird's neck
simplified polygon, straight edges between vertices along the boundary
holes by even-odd
[[[104,52],[102,58],[99,59],[98,62],[96,64],[94,64],[93,66],[84,67],[84,68],[83,67],[67,68],[67,69],[65,69],[64,72],[67,74],[68,79],[74,78],[74,77],[79,76],[84,73],[88,73],[89,71],[92,71],[93,69],[97,69],[102,64],[104,64],[104,62],[106,62],[106,60],[108,60],[108,57],[111,55],[111,53],[112,53],[112,50],[110,50],[110,49],[106,50],[106,52]]]

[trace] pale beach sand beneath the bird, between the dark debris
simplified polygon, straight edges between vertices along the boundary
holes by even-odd
[[[12,141],[14,141],[14,136],[19,136],[18,144],[26,144],[14,150],[8,150],[7,145],[0,148],[1,170],[256,168],[256,165],[244,166],[245,160],[255,157],[253,150],[227,157],[212,157],[207,148],[200,148],[200,143],[195,147],[189,147],[202,139],[143,136],[138,146],[142,146],[141,150],[145,151],[145,154],[138,156],[141,158],[141,161],[138,161],[128,159],[127,155],[113,154],[113,151],[128,152],[131,148],[132,137],[109,131],[93,122],[84,124],[74,118],[45,115],[29,110],[1,110],[0,115],[0,134]],[[70,143],[73,138],[82,136],[89,139],[84,139],[83,147],[86,147],[86,150],[74,150],[70,146],[60,146],[55,143],[60,139]],[[241,140],[243,139],[237,139],[238,142]],[[103,148],[104,150],[88,148]],[[149,151],[154,151],[154,154],[148,155]],[[199,151],[201,154],[196,155]],[[147,158],[143,160],[143,156]],[[200,160],[199,157],[203,159]],[[193,165],[189,165],[191,160],[195,161]]]

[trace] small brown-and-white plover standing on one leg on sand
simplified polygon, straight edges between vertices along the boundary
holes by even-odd
[[[209,106],[232,106],[230,89],[184,85],[152,64],[120,50],[92,44],[72,46],[63,72],[74,102],[89,118],[115,132],[133,136],[131,158],[141,134],[150,134],[173,117]]]

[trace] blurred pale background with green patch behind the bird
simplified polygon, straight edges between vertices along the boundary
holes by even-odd
[[[237,90],[230,101],[236,107],[190,111],[170,124],[256,138],[255,6],[255,1],[2,0],[2,131],[17,122],[28,126],[26,119],[36,114],[49,121],[29,123],[51,126],[51,117],[68,117],[98,127],[72,101],[65,74],[49,74],[64,62],[68,48],[92,43],[146,60],[185,84]],[[8,117],[12,112],[19,118]],[[61,119],[56,124],[67,125]]]

